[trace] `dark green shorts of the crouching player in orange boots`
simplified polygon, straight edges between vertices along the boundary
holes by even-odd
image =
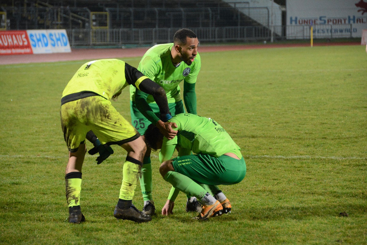
[[[246,163],[222,155],[218,158],[207,154],[179,156],[172,159],[176,172],[190,177],[200,184],[232,185],[241,182],[246,175]]]

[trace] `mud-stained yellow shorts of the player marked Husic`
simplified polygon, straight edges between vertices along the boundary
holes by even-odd
[[[122,145],[139,138],[140,134],[116,111],[111,101],[102,96],[91,96],[70,101],[61,106],[61,127],[70,152],[76,152],[80,143],[92,130],[102,144]]]

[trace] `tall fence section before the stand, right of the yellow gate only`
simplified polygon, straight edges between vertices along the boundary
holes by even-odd
[[[268,25],[266,7],[106,8],[112,28],[177,28]]]

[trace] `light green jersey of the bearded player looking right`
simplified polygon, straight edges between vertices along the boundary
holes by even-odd
[[[167,94],[168,103],[181,101],[179,83],[183,80],[187,83],[196,83],[201,67],[199,54],[196,55],[191,65],[182,61],[178,67],[175,67],[171,60],[172,47],[173,43],[167,43],[149,48],[138,66],[139,71],[163,87]],[[130,86],[131,101],[135,101],[135,91],[135,87]],[[155,102],[151,95],[146,101],[148,103]]]

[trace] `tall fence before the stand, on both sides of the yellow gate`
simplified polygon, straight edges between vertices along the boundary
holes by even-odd
[[[38,1],[37,1],[38,2]],[[7,13],[8,29],[88,29],[101,21],[88,8],[58,7],[43,3],[29,7],[1,7]],[[178,28],[195,26],[214,28],[224,26],[269,25],[266,7],[191,7],[191,8],[103,8],[109,14],[106,23],[117,28]]]

